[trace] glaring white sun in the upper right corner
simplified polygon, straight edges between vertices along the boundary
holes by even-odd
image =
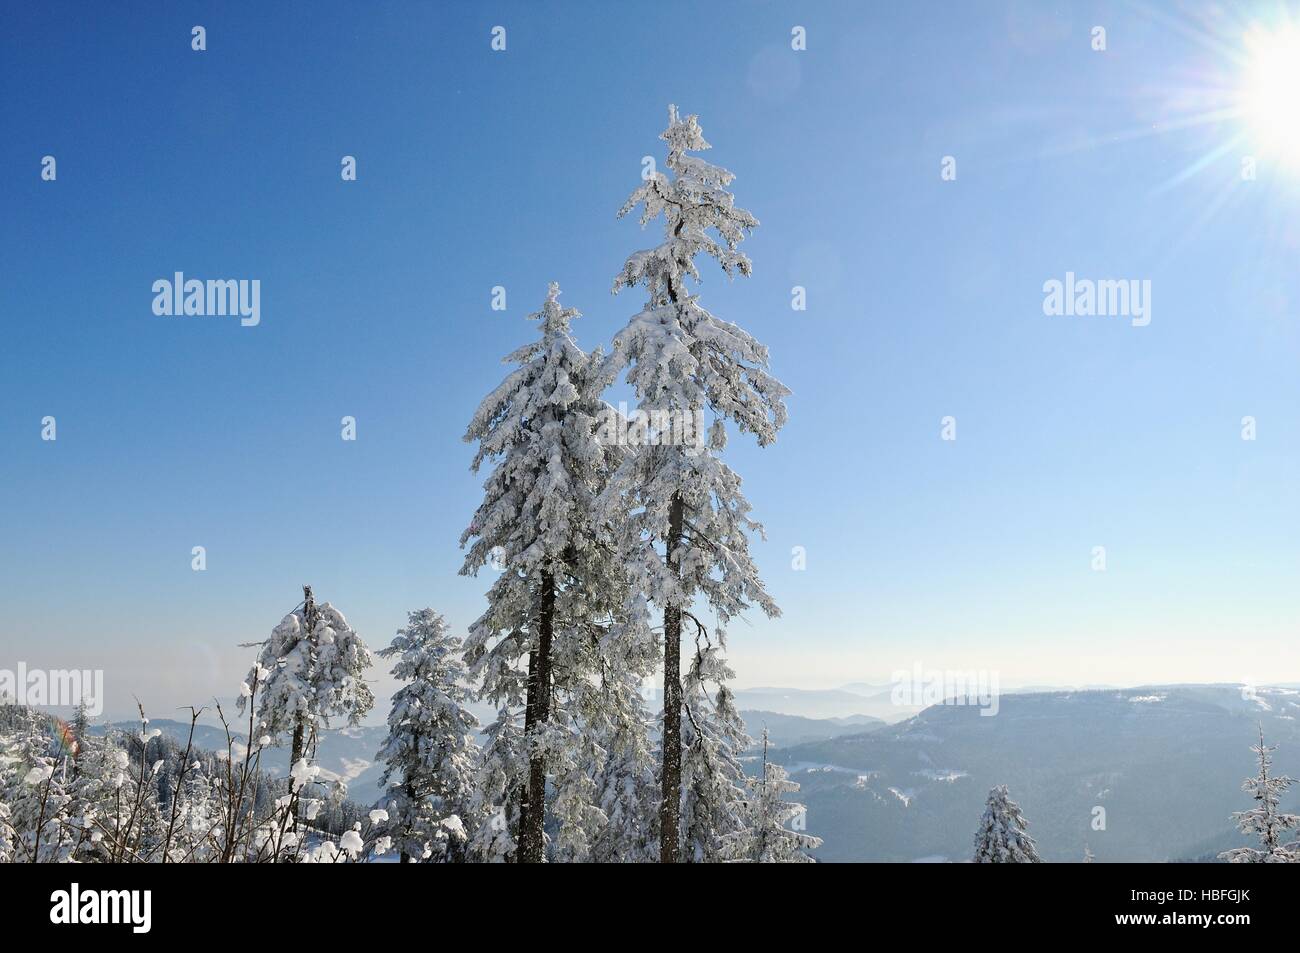
[[[1300,29],[1245,36],[1240,108],[1261,157],[1300,169]]]

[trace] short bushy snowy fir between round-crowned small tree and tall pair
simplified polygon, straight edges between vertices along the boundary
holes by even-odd
[[[387,789],[376,836],[391,837],[403,863],[463,859],[443,850],[455,841],[442,826],[450,816],[467,820],[478,761],[478,719],[465,707],[460,638],[441,615],[421,608],[407,615],[407,625],[378,654],[395,659],[393,676],[404,684],[393,696],[389,736],[378,753]]]

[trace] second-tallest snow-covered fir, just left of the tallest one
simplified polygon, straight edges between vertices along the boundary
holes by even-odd
[[[524,862],[545,854],[547,751],[560,744],[551,724],[552,689],[581,677],[562,671],[566,660],[589,657],[572,645],[599,641],[601,620],[621,605],[627,584],[602,542],[595,508],[620,452],[597,434],[608,412],[597,374],[603,358],[573,341],[569,322],[578,312],[562,308],[559,294],[552,283],[542,309],[530,315],[541,324],[541,339],[506,356],[517,367],[484,399],[465,432],[467,441],[478,442],[473,469],[488,460],[494,467],[462,536],[463,546],[473,540],[462,572],[476,575],[486,564],[500,571],[488,610],[471,628],[465,658],[481,698],[525,707]]]

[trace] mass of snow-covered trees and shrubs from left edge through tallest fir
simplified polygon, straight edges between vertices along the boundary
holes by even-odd
[[[329,602],[302,603],[256,649],[226,746],[151,732],[95,737],[6,707],[0,858],[17,861],[803,862],[798,789],[733,703],[727,625],[779,612],[749,555],[762,527],[728,467],[728,429],[775,442],[786,389],[767,348],[705,308],[711,264],[748,276],[758,220],[732,173],[706,163],[696,116],[670,107],[667,173],[647,170],[619,215],[663,241],[614,278],[638,309],[608,351],[573,337],[578,312],[551,285],[538,334],[506,356],[464,439],[485,473],[460,538],[465,575],[494,576],[467,637],[410,612],[373,653]],[[634,413],[604,391],[625,380]],[[706,619],[708,621],[706,621]],[[685,658],[682,658],[685,651]],[[317,780],[318,732],[374,706],[376,655],[402,683],[364,810]],[[662,710],[644,686],[662,675]],[[467,709],[490,702],[485,727]],[[199,710],[192,711],[195,722]],[[283,781],[263,771],[287,761]]]

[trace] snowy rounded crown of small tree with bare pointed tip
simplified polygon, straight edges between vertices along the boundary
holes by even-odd
[[[370,650],[330,603],[316,605],[303,586],[303,605],[286,615],[261,644],[239,696],[239,711],[257,698],[257,729],[290,735],[289,763],[308,757],[311,740],[332,719],[358,724],[374,705],[365,671]],[[252,744],[252,740],[250,740]]]

